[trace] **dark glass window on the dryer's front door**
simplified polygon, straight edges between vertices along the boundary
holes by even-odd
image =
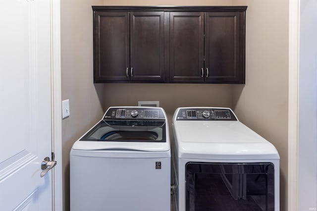
[[[186,164],[186,211],[274,211],[272,163]]]

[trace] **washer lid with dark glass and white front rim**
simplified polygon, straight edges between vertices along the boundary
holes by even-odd
[[[168,124],[165,122],[158,126],[118,126],[108,125],[104,120],[101,120],[80,137],[73,144],[72,149],[85,151],[167,152],[170,151],[170,142],[169,134],[166,134],[165,131],[168,132]],[[138,140],[142,136],[149,136],[149,139]],[[109,140],[107,137],[112,138]]]

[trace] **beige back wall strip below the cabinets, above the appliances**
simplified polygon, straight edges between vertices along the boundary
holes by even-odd
[[[105,106],[137,106],[138,101],[159,101],[169,125],[177,107],[231,107],[231,86],[226,84],[105,84]],[[171,129],[171,126],[169,127]]]

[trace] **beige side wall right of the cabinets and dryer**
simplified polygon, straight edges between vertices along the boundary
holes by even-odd
[[[281,211],[287,211],[288,0],[238,0],[246,12],[246,84],[233,86],[239,119],[280,155]]]

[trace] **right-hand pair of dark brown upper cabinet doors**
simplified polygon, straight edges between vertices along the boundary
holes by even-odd
[[[244,83],[243,12],[171,12],[170,81]]]

